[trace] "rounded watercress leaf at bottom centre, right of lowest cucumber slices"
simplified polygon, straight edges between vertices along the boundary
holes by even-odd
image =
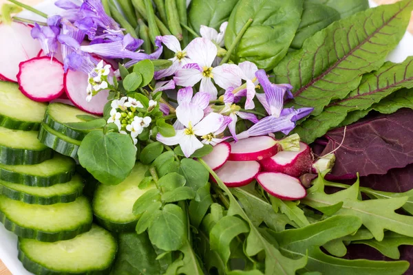
[[[178,250],[184,244],[186,230],[184,212],[175,204],[167,204],[156,211],[149,226],[151,243],[165,251]]]

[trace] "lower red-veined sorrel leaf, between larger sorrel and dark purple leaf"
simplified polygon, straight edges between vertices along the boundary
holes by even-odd
[[[317,137],[339,125],[348,112],[370,109],[372,104],[394,91],[411,87],[413,87],[413,57],[407,58],[403,63],[387,62],[377,71],[365,74],[359,87],[351,91],[346,98],[331,102],[322,113],[308,118],[295,127],[294,131],[304,142],[313,142]],[[384,106],[388,106],[388,103]],[[392,109],[394,108],[390,107],[390,110]]]

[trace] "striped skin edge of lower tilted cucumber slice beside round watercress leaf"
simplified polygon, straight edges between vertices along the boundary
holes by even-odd
[[[37,138],[39,138],[41,143],[52,148],[54,151],[72,157],[73,159],[78,159],[77,151],[79,146],[77,144],[62,140],[60,137],[48,132],[43,127],[40,127]]]

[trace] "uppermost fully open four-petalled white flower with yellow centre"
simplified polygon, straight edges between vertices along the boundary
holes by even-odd
[[[193,63],[187,64],[179,69],[173,80],[176,85],[182,87],[193,87],[201,81],[200,92],[211,94],[211,100],[215,100],[218,90],[215,84],[223,89],[229,87],[239,87],[241,85],[241,69],[234,64],[224,64],[218,67],[211,67],[217,56],[217,47],[204,38],[196,38],[189,43],[187,53]]]

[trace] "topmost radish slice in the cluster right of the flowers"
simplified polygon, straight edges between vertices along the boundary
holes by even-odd
[[[279,148],[277,141],[268,135],[260,137],[248,137],[245,140],[231,142],[231,154],[229,160],[246,161],[260,160],[275,155]]]

